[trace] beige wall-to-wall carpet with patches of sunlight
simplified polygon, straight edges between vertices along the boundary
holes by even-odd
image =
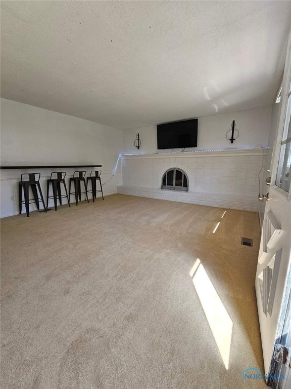
[[[2,219],[2,387],[263,388],[241,374],[263,370],[258,214],[224,211],[113,195]]]

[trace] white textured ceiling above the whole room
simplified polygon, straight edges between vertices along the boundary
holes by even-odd
[[[2,1],[2,97],[118,128],[267,106],[288,1]]]

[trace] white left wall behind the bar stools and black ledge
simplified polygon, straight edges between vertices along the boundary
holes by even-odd
[[[122,152],[122,137],[122,130],[116,128],[1,99],[1,165],[98,164],[102,165],[103,182],[110,180],[104,185],[105,194],[116,193],[122,183],[120,166],[111,177]],[[74,170],[80,169],[66,169],[67,176]],[[90,170],[94,169],[87,172]],[[51,171],[40,170],[42,178]],[[1,217],[18,213],[17,182],[25,172],[1,171]],[[44,192],[45,182],[41,185]],[[14,202],[10,196],[14,196]]]

